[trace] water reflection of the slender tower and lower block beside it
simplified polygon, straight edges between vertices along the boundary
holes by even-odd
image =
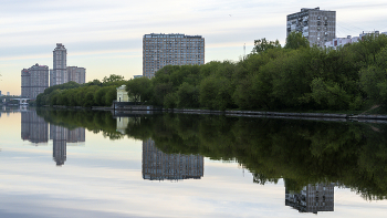
[[[66,160],[67,143],[85,142],[85,128],[69,129],[50,125],[50,139],[52,139],[53,159],[57,166],[61,166]]]

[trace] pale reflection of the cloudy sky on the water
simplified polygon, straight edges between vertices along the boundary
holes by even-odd
[[[19,122],[10,125],[10,121]],[[15,134],[14,134],[15,132]],[[300,217],[285,207],[283,181],[253,184],[236,163],[205,159],[201,179],[150,181],[142,177],[142,141],[109,141],[86,132],[56,167],[52,141],[20,139],[20,114],[0,118],[0,217]],[[367,203],[335,189],[335,211],[318,217],[385,217],[386,201]],[[306,214],[303,216],[315,216]]]

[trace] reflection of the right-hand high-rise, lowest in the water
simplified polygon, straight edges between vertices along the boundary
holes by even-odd
[[[300,193],[286,188],[285,205],[300,212],[334,211],[334,185],[307,185]]]

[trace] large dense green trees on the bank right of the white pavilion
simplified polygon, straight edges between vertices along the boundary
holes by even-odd
[[[362,110],[387,103],[387,37],[369,35],[337,50],[310,48],[301,34],[255,40],[238,62],[168,65],[127,91],[165,107],[211,110]]]

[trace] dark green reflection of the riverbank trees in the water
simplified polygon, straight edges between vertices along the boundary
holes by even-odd
[[[45,121],[102,131],[112,139],[116,120],[107,112],[38,111]],[[200,154],[236,160],[254,183],[284,178],[293,190],[307,184],[338,183],[366,199],[387,197],[387,125],[296,120],[159,114],[130,117],[126,135],[165,153]]]

